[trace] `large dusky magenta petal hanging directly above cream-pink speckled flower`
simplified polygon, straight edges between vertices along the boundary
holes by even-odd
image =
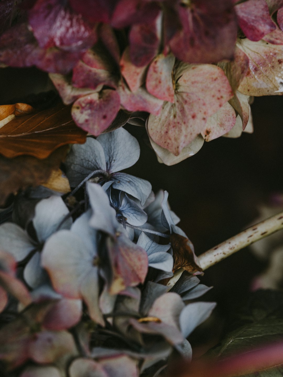
[[[188,63],[217,63],[232,59],[237,20],[231,0],[196,0],[178,6],[182,28],[169,41],[173,54]]]

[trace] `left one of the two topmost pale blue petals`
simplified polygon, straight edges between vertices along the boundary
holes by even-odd
[[[94,170],[106,170],[101,144],[94,138],[87,138],[85,144],[73,145],[66,157],[65,165],[71,187],[76,187]]]

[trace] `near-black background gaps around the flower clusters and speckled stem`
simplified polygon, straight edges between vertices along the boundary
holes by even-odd
[[[0,69],[0,88],[0,104],[5,104],[49,90],[52,84],[35,68],[6,68]],[[283,193],[283,98],[257,97],[251,107],[253,134],[205,143],[195,156],[170,167],[157,162],[143,127],[126,127],[141,146],[140,159],[128,172],[148,179],[155,192],[161,188],[169,192],[171,208],[181,218],[179,225],[197,255],[239,233],[259,215],[260,204],[268,203],[273,193]],[[227,308],[241,303],[252,279],[265,267],[246,248],[205,271],[201,282],[214,286],[205,299],[218,303],[205,328],[207,339],[215,337],[216,342]],[[198,340],[194,336],[192,342]]]

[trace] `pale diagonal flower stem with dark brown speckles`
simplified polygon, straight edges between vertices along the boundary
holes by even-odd
[[[283,228],[283,211],[275,216],[249,227],[236,236],[229,238],[214,248],[198,256],[200,267],[203,270],[227,258],[244,247],[259,241]]]

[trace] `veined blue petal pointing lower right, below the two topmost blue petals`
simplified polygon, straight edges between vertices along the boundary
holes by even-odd
[[[126,192],[140,200],[141,205],[151,193],[151,184],[145,179],[134,177],[126,173],[114,173],[111,177],[113,188]]]

